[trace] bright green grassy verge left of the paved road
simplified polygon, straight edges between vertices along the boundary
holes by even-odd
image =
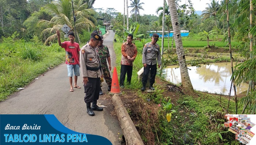
[[[38,39],[28,43],[14,38],[0,44],[0,101],[65,60],[65,51],[57,44],[44,46]]]

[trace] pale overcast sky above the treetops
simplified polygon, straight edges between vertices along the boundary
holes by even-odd
[[[187,0],[182,0],[182,2],[180,4],[185,4]],[[207,3],[211,3],[211,0],[191,0],[193,3],[193,7],[195,8],[196,11],[203,11],[206,7],[207,7]],[[166,0],[167,2],[167,0]],[[130,6],[131,1],[128,0],[128,6]],[[144,9],[144,11],[142,9],[140,9],[140,15],[157,15],[157,13],[155,13],[156,9],[158,7],[162,7],[163,5],[163,0],[140,0],[140,3],[144,3],[142,4],[142,7]],[[126,4],[126,0],[125,0],[125,4]],[[114,8],[117,10],[117,12],[121,12],[124,13],[124,0],[95,0],[95,3],[93,5],[94,8],[103,8],[103,9],[107,9],[107,8]],[[126,6],[125,6],[126,9]],[[128,12],[129,15],[130,11],[132,8],[128,8]],[[125,14],[126,14],[126,10],[125,10]]]

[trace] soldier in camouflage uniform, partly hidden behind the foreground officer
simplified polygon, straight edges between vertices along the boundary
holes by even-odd
[[[97,49],[99,51],[99,58],[101,59],[101,64],[102,64],[102,70],[103,70],[103,77],[108,84],[108,91],[111,90],[111,83],[112,83],[112,78],[110,76],[110,70],[111,70],[111,61],[110,61],[110,54],[109,54],[109,49],[107,46],[103,45],[103,37],[101,36],[101,41],[99,41],[99,44],[97,46]],[[108,64],[107,64],[108,60]],[[102,84],[101,84],[102,87]],[[99,95],[103,95],[102,90],[100,88]]]

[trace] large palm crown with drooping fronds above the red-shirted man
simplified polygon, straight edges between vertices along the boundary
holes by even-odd
[[[73,0],[73,5],[76,17],[76,31],[82,32],[84,29],[90,31],[90,28],[94,28],[94,24],[97,22],[93,17],[95,11],[87,9],[87,3],[83,3],[81,0]],[[45,44],[57,37],[55,31],[60,30],[64,24],[71,28],[70,31],[74,31],[71,0],[54,1],[52,4],[46,5],[45,9],[52,14],[52,19],[50,21],[40,20],[38,24],[46,24],[49,27],[43,30],[42,34],[54,32],[53,35],[46,39]]]

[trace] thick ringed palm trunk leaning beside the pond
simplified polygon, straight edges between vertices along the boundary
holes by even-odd
[[[180,25],[178,23],[178,14],[177,14],[175,0],[168,0],[168,5],[169,5],[171,20],[172,20],[173,33],[175,36],[174,39],[176,44],[176,51],[178,55],[179,65],[180,65],[181,84],[184,87],[184,89],[189,91],[194,91],[191,80],[188,75],[188,67],[186,64],[185,54],[182,46]]]

